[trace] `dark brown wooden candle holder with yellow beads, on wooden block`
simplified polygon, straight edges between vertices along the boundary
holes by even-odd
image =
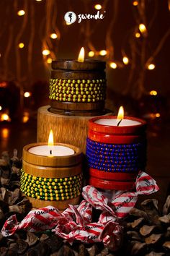
[[[55,114],[97,116],[106,95],[105,62],[59,60],[52,62],[50,111]],[[83,114],[81,114],[81,111]]]

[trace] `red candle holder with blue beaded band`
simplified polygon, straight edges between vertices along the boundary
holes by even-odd
[[[117,116],[89,120],[89,184],[100,189],[133,189],[138,172],[146,167],[146,121],[125,116],[127,124],[116,126],[116,120]]]

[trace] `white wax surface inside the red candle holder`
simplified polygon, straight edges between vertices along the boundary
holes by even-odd
[[[108,125],[111,127],[117,127],[118,122],[120,119],[98,119],[95,121],[96,124]],[[141,124],[140,121],[130,120],[130,119],[122,119],[120,121],[119,127],[130,127],[133,125]]]

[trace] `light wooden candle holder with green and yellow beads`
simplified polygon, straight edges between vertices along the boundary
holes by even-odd
[[[23,148],[21,191],[33,208],[53,205],[64,210],[68,204],[79,203],[82,189],[81,150],[73,145],[58,143],[74,150],[73,155],[42,156],[29,152],[30,148],[45,143],[34,143]]]

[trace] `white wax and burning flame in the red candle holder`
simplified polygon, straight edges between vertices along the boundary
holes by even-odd
[[[141,122],[140,121],[136,121],[133,118],[130,117],[125,117],[124,118],[124,110],[122,108],[122,106],[119,109],[117,118],[114,118],[114,116],[112,116],[112,119],[97,119],[97,121],[95,121],[96,124],[102,124],[102,125],[108,125],[108,126],[119,126],[119,127],[128,127],[128,126],[134,126],[134,125],[140,125]]]

